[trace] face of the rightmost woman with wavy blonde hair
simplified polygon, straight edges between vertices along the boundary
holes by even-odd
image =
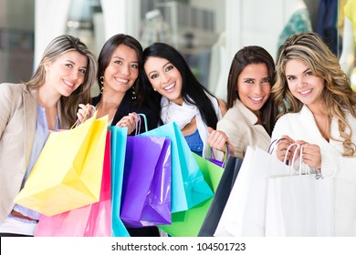
[[[291,59],[286,64],[286,78],[292,95],[308,107],[321,102],[324,79],[314,76],[304,62]]]

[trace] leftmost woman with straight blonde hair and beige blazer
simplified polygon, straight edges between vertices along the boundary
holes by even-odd
[[[97,61],[87,46],[64,35],[47,46],[28,82],[0,84],[0,237],[36,231],[40,214],[13,201],[49,131],[70,128],[79,103],[89,103],[96,74]]]

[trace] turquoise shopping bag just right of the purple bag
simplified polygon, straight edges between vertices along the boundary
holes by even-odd
[[[140,136],[171,139],[172,212],[191,209],[213,197],[212,189],[204,180],[203,173],[175,122],[154,128]]]

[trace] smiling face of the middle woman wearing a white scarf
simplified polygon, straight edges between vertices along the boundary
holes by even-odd
[[[153,89],[170,101],[182,105],[182,76],[171,62],[162,57],[149,56],[144,71]]]

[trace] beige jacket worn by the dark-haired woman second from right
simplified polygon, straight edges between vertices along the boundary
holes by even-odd
[[[217,123],[216,129],[225,132],[230,143],[235,147],[233,156],[238,158],[244,158],[247,146],[267,151],[270,143],[266,129],[257,124],[256,115],[238,99]]]

